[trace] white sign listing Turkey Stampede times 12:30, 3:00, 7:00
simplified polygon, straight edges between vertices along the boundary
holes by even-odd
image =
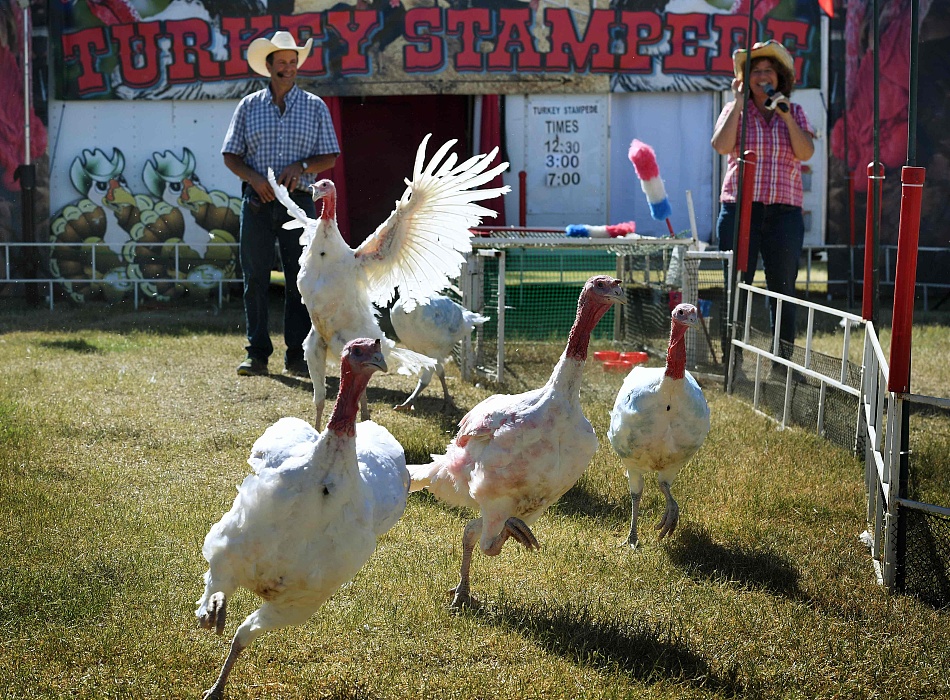
[[[525,106],[528,213],[605,223],[606,95],[538,95]]]

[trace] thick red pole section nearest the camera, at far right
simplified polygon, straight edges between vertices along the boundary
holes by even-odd
[[[891,359],[887,390],[910,391],[910,338],[914,326],[914,290],[917,286],[917,244],[920,238],[920,200],[926,168],[901,169],[901,221],[894,273],[894,315],[891,319]]]

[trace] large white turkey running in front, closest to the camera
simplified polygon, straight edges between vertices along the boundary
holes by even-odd
[[[378,340],[347,343],[340,392],[326,430],[282,418],[257,439],[254,473],[205,537],[201,626],[224,631],[238,587],[264,599],[238,627],[231,650],[204,698],[218,700],[240,653],[262,632],[299,625],[362,568],[376,540],[406,506],[409,475],[402,447],[383,427],[356,425],[359,397],[386,370]]]

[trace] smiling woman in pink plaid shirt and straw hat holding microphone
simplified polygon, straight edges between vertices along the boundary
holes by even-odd
[[[789,100],[795,86],[795,63],[785,47],[775,40],[752,47],[748,86],[744,82],[746,53],[740,50],[733,54],[735,99],[723,107],[712,137],[713,148],[728,156],[719,196],[719,248],[732,250],[739,187],[739,129],[740,119],[745,118],[745,147],[755,151],[757,164],[749,229],[749,264],[742,281],[752,282],[761,253],[768,289],[794,296],[805,238],[802,162],[815,152],[815,130],[801,105]],[[746,109],[749,97],[751,108]],[[774,332],[775,303],[772,301]],[[779,338],[783,341],[783,355],[787,356],[795,343],[792,304],[783,309]]]

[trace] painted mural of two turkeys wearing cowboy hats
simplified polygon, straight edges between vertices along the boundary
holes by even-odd
[[[145,298],[169,301],[237,276],[240,200],[205,189],[191,151],[152,154],[142,174],[149,194],[133,193],[125,170],[115,148],[83,150],[72,162],[80,199],[50,225],[51,240],[63,244],[51,253],[50,272],[67,296],[116,302],[138,286]]]

